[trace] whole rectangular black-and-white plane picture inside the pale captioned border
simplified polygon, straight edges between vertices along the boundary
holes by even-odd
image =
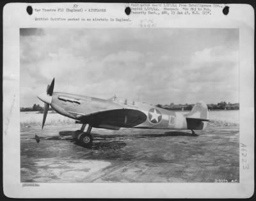
[[[21,182],[239,182],[238,29],[20,29]]]

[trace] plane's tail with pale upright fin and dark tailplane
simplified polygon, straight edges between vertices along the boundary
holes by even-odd
[[[195,104],[189,114],[185,115],[188,129],[191,130],[204,130],[209,121],[207,105],[200,101]]]

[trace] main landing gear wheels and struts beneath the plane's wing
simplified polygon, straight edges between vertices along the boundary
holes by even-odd
[[[77,142],[84,145],[84,147],[91,147],[93,142],[92,135],[90,134],[92,131],[92,126],[88,126],[86,133],[84,132],[85,126],[86,124],[83,124],[81,130],[75,131],[72,137],[76,139]]]

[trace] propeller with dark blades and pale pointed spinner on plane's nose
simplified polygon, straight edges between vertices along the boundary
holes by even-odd
[[[44,117],[43,117],[43,123],[42,123],[42,130],[44,128],[44,123],[49,110],[49,106],[51,105],[53,89],[54,89],[54,78],[52,80],[51,85],[48,84],[46,89],[46,94],[41,94],[37,96],[41,101],[44,102]]]

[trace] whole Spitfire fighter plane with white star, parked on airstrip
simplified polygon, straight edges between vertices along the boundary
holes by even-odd
[[[119,130],[120,128],[164,129],[164,130],[204,130],[207,126],[208,109],[204,102],[196,103],[189,114],[181,114],[158,108],[138,101],[121,101],[116,97],[108,100],[70,93],[53,92],[54,78],[47,86],[46,94],[38,95],[44,102],[44,118],[49,106],[61,115],[82,124],[72,137],[85,146],[91,146],[92,128]],[[88,124],[87,131],[84,129]]]

